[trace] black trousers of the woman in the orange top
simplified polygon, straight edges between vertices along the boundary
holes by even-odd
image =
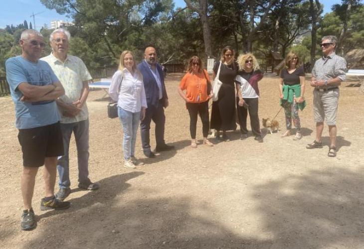
[[[199,114],[202,122],[202,134],[203,137],[207,137],[209,123],[208,123],[208,101],[203,103],[186,103],[186,107],[189,113],[189,132],[191,138],[196,138],[196,124],[197,114]]]

